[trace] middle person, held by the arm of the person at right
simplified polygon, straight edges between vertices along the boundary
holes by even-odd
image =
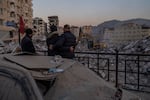
[[[49,33],[46,43],[48,47],[48,56],[55,56],[58,55],[58,50],[53,48],[53,45],[59,39],[59,33],[57,32],[57,27],[52,25],[50,27],[51,32]]]

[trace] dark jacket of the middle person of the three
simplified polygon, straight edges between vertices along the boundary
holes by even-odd
[[[56,43],[56,41],[59,39],[59,34],[58,32],[52,32],[49,34],[49,36],[46,39],[46,43],[47,43],[47,47],[48,47],[48,56],[55,56],[55,55],[59,55],[58,50],[57,49],[49,49],[50,45],[54,45]]]

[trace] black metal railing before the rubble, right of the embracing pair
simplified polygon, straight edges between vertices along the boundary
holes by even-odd
[[[76,60],[116,87],[150,92],[149,54],[76,52]]]

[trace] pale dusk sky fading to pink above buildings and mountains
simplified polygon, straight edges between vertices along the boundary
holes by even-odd
[[[64,24],[94,25],[108,20],[150,19],[150,0],[33,0],[33,17],[57,15]]]

